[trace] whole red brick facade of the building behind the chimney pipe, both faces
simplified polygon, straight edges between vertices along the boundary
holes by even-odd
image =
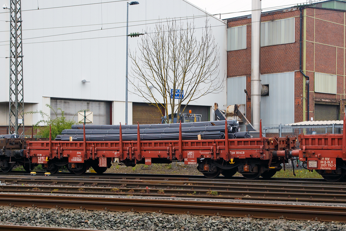
[[[299,70],[300,10],[297,8],[262,14],[262,21],[295,18],[295,42],[261,47],[261,74],[295,71],[294,74],[294,122],[303,121],[303,75]],[[251,95],[251,18],[229,19],[228,27],[247,25],[246,49],[227,52],[227,77],[246,75],[246,89]],[[314,117],[314,103],[318,101],[340,104],[344,112],[345,99],[345,13],[337,10],[306,9],[306,75],[310,77],[310,114]],[[304,31],[304,30],[303,30]],[[304,47],[304,44],[302,44]],[[304,50],[304,49],[302,49]],[[303,52],[302,52],[303,55]],[[302,59],[303,65],[303,59]],[[337,75],[337,94],[314,92],[314,72]],[[307,118],[306,101],[306,119]],[[251,121],[250,101],[246,108],[247,119]]]

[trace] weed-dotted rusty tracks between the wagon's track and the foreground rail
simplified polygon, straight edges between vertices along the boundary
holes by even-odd
[[[343,183],[318,183],[306,180],[300,181],[297,185],[294,180],[105,178],[0,176],[2,183],[9,184],[1,185],[0,190],[7,193],[174,196],[346,203],[346,185]]]

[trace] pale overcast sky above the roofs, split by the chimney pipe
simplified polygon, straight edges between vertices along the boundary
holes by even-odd
[[[221,19],[232,18],[242,15],[250,15],[251,0],[188,0],[195,6],[207,10],[210,14],[223,14],[237,12],[234,14],[221,15]],[[306,3],[309,0],[262,0],[262,12],[273,9],[286,8],[297,5],[297,3]],[[245,12],[239,12],[245,11]]]

